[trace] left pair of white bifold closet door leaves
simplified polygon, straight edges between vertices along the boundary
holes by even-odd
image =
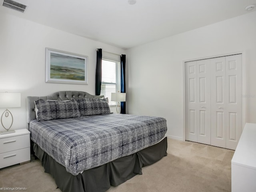
[[[186,62],[186,140],[210,144],[210,60]]]

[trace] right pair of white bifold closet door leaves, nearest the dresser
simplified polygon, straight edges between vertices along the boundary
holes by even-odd
[[[235,150],[242,134],[242,54],[211,62],[211,145]]]

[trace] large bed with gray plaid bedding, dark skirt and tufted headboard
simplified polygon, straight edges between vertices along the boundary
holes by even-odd
[[[164,118],[112,114],[104,96],[28,96],[27,122],[32,153],[63,192],[104,192],[167,155]]]

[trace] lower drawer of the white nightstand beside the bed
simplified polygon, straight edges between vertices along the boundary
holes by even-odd
[[[30,160],[30,148],[0,154],[0,168]]]

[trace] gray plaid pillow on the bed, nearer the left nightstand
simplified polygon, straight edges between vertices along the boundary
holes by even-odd
[[[76,100],[54,101],[40,99],[35,101],[35,105],[39,121],[81,116]]]

